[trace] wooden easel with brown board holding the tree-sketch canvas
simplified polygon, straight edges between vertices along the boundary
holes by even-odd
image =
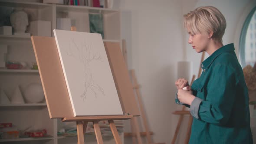
[[[71,29],[72,31],[76,30],[75,27]],[[128,69],[124,65],[125,61],[121,53],[120,44],[114,42],[104,43],[121,107],[124,113],[128,115],[74,117],[55,39],[43,36],[32,36],[31,39],[50,118],[62,118],[63,122],[76,121],[78,144],[85,143],[84,133],[90,121],[93,122],[98,144],[103,144],[98,122],[108,121],[116,144],[121,144],[114,120],[126,120],[139,116],[139,111],[133,95]],[[54,88],[53,85],[55,86]],[[59,102],[59,99],[62,101]]]

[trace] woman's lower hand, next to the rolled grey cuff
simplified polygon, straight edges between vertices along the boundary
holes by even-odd
[[[178,89],[178,99],[184,104],[191,105],[192,101],[194,100],[195,96],[193,95],[192,91]]]

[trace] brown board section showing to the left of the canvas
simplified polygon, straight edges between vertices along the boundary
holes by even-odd
[[[31,39],[50,118],[73,117],[55,39],[43,36]]]

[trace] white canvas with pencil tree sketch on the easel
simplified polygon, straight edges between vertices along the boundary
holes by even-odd
[[[53,32],[74,116],[123,115],[101,34]]]

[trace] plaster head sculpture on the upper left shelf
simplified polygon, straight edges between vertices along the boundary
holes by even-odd
[[[27,13],[22,8],[16,8],[10,15],[11,25],[14,28],[15,33],[25,33],[28,26]]]

